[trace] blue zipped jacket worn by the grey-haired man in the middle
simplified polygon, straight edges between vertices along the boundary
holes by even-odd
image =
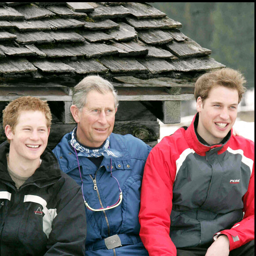
[[[81,186],[77,158],[70,145],[71,133],[61,139],[53,153],[64,173]],[[147,250],[139,238],[138,214],[143,169],[151,147],[132,135],[122,136],[114,133],[110,135],[109,147],[122,154],[121,157],[112,158],[112,174],[120,184],[123,200],[118,207],[106,211],[95,212],[86,208],[86,255],[147,256]],[[99,209],[115,204],[119,198],[119,188],[117,181],[110,177],[110,159],[104,157],[97,168],[88,158],[78,158],[83,193],[89,206]],[[123,246],[107,249],[104,239],[115,234],[119,235]]]

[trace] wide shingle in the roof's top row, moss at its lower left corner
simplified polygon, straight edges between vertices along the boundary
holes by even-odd
[[[123,18],[129,14],[129,10],[127,8],[124,8],[122,5],[100,6],[98,8],[95,8],[94,12],[88,13],[88,15],[93,19]]]

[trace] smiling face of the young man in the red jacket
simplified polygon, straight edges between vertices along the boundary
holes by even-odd
[[[210,145],[220,143],[236,121],[237,105],[237,90],[223,86],[213,87],[203,102],[198,97],[199,135]]]

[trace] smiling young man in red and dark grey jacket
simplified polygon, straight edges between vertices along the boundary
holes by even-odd
[[[254,255],[254,143],[232,135],[244,83],[230,68],[200,76],[192,124],[149,154],[139,221],[150,256]]]

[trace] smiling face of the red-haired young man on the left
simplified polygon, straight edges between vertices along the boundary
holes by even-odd
[[[13,131],[6,125],[5,134],[10,140],[9,158],[12,161],[39,161],[47,146],[50,128],[41,111],[22,111]]]

